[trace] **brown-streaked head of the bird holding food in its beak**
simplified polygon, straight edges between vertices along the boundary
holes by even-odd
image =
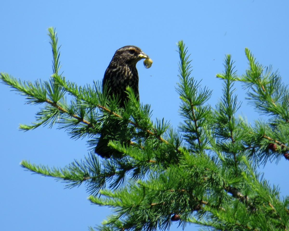
[[[149,58],[139,47],[125,46],[118,49],[112,58],[114,61],[135,65],[139,60]]]

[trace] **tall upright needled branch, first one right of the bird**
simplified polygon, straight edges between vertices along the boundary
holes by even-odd
[[[210,99],[212,91],[209,91],[208,88],[202,89],[200,82],[198,83],[193,77],[190,77],[191,60],[189,60],[190,55],[187,54],[186,45],[183,41],[179,41],[177,46],[180,56],[180,83],[178,83],[177,92],[181,99],[181,116],[185,118],[185,123],[180,126],[180,129],[185,133],[185,137],[194,151],[204,152],[204,149],[208,148],[208,138],[205,137],[205,133],[211,125],[211,108],[204,104]]]

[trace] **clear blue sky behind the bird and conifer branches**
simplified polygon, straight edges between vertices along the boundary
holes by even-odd
[[[151,104],[152,118],[177,127],[179,98],[176,42],[184,40],[192,54],[192,75],[213,90],[217,103],[223,59],[230,53],[238,74],[247,68],[245,47],[263,65],[272,64],[289,83],[287,0],[211,1],[1,1],[0,71],[21,80],[48,80],[52,74],[48,27],[56,27],[63,75],[79,85],[102,80],[116,49],[136,45],[153,60],[150,69],[138,63],[140,100]],[[236,84],[239,113],[257,119]],[[31,175],[23,159],[62,167],[88,153],[86,139],[72,140],[64,130],[39,127],[21,132],[19,123],[34,121],[38,106],[0,84],[1,197],[0,230],[87,230],[110,213],[91,205],[84,186],[64,189],[52,178]],[[287,195],[289,161],[268,162],[265,178]],[[174,225],[171,230],[175,230]],[[194,230],[187,226],[186,230]]]

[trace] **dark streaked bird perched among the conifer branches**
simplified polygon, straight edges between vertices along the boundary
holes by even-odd
[[[136,99],[139,100],[138,92],[138,71],[136,69],[136,63],[141,59],[148,59],[149,56],[144,53],[139,47],[136,46],[125,46],[121,47],[114,53],[110,64],[105,70],[102,90],[108,91],[108,97],[118,97],[119,107],[124,108],[128,100],[126,88],[129,86]],[[109,122],[103,125],[103,131],[110,131],[115,133],[118,129],[116,122]],[[95,153],[102,158],[110,158],[113,154],[118,156],[121,154],[115,149],[108,147],[109,140],[113,139],[112,136],[105,135],[101,132],[101,136],[95,147]]]

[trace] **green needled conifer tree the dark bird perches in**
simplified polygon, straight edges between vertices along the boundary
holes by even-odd
[[[280,198],[279,189],[257,172],[268,159],[289,159],[289,92],[271,66],[259,64],[246,48],[249,68],[238,76],[227,55],[225,71],[217,75],[223,95],[212,107],[207,103],[212,91],[191,76],[188,49],[179,41],[177,92],[183,123],[176,131],[165,119],[153,122],[150,106],[141,104],[129,88],[130,100],[119,108],[99,82],[77,86],[66,80],[60,74],[57,34],[48,30],[53,52],[50,80],[32,83],[6,73],[1,80],[27,103],[42,105],[36,121],[20,125],[21,130],[58,125],[72,138],[86,137],[92,149],[84,160],[61,168],[26,160],[21,165],[65,181],[70,188],[86,184],[92,203],[114,208],[97,229],[166,230],[178,222],[181,228],[195,223],[210,230],[288,230],[289,198]],[[268,115],[267,121],[252,125],[236,116],[236,81],[248,90],[251,106]],[[109,142],[121,155],[100,158],[93,149],[107,121],[123,128],[123,134]]]

